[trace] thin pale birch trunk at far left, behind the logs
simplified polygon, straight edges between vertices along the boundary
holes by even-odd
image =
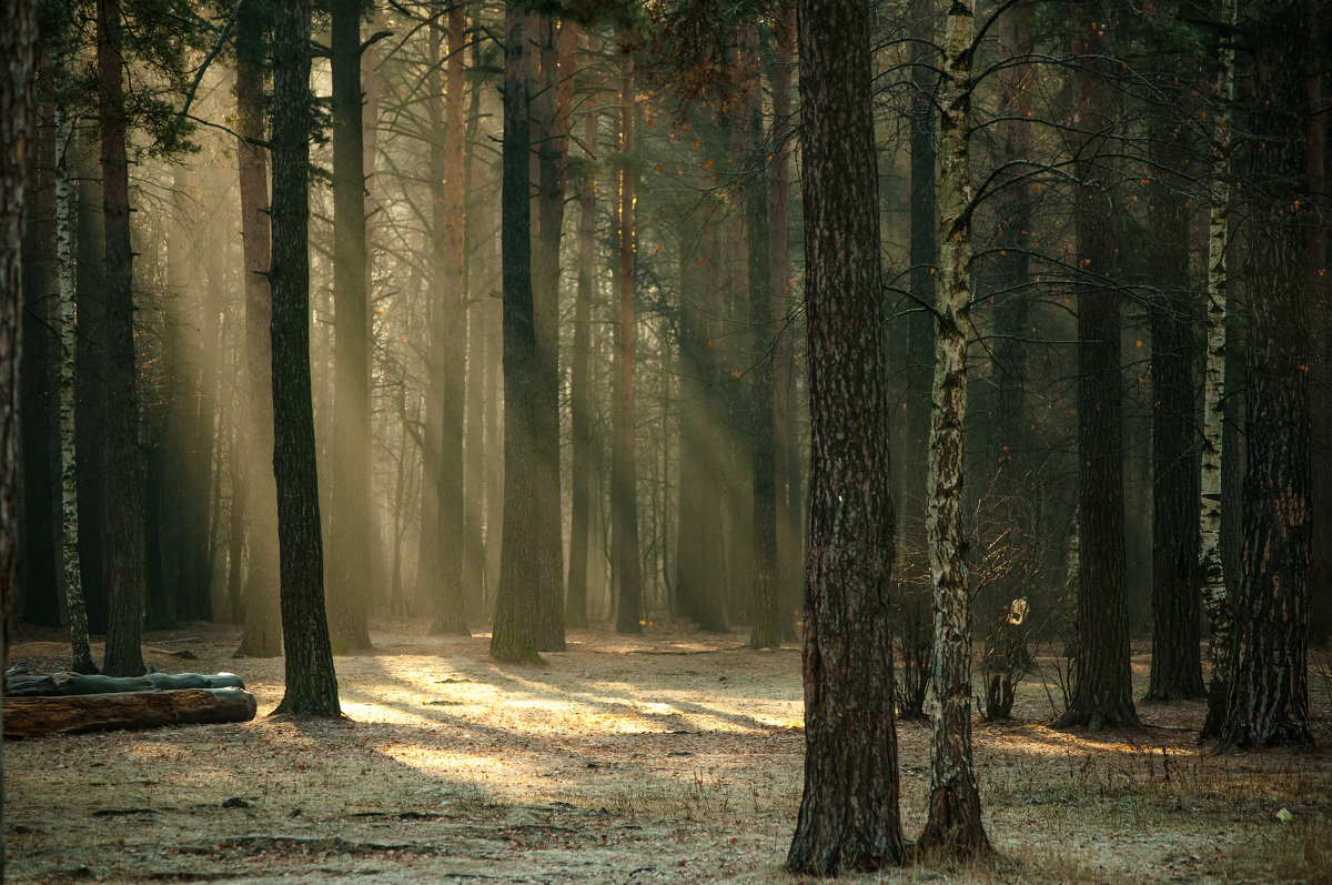
[[[56,288],[60,293],[60,505],[64,532],[61,533],[61,564],[65,581],[65,608],[69,614],[69,669],[75,673],[96,673],[92,650],[88,648],[88,608],[84,602],[83,576],[79,570],[79,461],[75,457],[75,357],[77,353],[75,305],[75,235],[79,211],[79,192],[75,189],[69,168],[73,121],[69,119],[69,71],[73,48],[69,21],[60,11],[52,21],[51,52],[55,55],[56,105],[52,120],[56,129]]]

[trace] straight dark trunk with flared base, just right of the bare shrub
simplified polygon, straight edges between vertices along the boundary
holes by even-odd
[[[1099,7],[1082,12],[1088,36],[1074,44],[1083,59],[1075,71],[1075,93],[1083,127],[1100,132],[1114,107],[1106,67],[1104,31],[1094,31]],[[1116,237],[1111,203],[1098,179],[1107,160],[1103,136],[1079,151],[1076,172],[1083,184],[1074,203],[1078,261],[1078,652],[1076,680],[1068,709],[1055,728],[1140,725],[1134,709],[1130,670],[1128,610],[1124,588],[1124,424],[1122,416],[1119,292]]]

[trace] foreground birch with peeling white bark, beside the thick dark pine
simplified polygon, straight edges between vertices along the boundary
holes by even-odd
[[[971,323],[970,0],[948,8],[939,81],[939,275],[926,536],[934,594],[930,818],[919,848],[948,856],[990,849],[971,764],[971,588],[963,534],[967,329]]]

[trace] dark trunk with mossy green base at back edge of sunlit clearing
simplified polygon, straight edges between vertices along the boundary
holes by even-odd
[[[501,248],[503,273],[503,538],[490,654],[500,661],[539,661],[537,608],[539,560],[530,544],[537,506],[537,446],[533,413],[535,321],[531,303],[531,207],[527,199],[527,13],[505,11],[503,181]]]

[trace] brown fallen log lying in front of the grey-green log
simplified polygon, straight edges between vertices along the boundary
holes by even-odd
[[[254,718],[254,696],[238,688],[7,697],[4,736],[83,734]]]

